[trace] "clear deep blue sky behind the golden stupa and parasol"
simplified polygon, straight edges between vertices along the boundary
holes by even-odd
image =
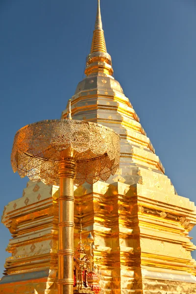
[[[0,0],[0,214],[22,196],[15,132],[60,118],[83,77],[96,0]],[[101,0],[107,50],[166,174],[196,198],[196,0]],[[195,236],[196,229],[192,231]],[[0,272],[10,233],[0,225]],[[196,257],[196,254],[195,254]]]

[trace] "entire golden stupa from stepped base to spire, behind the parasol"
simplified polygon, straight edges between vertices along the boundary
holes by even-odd
[[[86,77],[71,99],[72,117],[100,123],[121,137],[120,169],[106,182],[74,188],[74,246],[91,232],[100,294],[195,294],[196,247],[189,232],[196,207],[177,195],[120,83],[112,76],[100,3]],[[62,112],[62,118],[67,116]],[[0,293],[57,294],[58,186],[27,183],[4,208],[12,239]]]

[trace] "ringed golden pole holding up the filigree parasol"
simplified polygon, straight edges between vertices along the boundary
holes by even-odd
[[[58,294],[73,294],[73,181],[75,168],[75,161],[71,158],[59,162]]]

